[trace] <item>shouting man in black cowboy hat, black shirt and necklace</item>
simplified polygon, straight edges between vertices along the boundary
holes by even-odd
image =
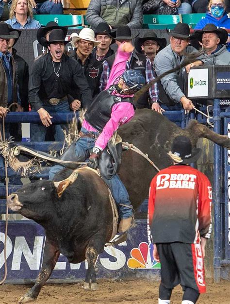
[[[29,100],[32,110],[37,111],[42,124],[31,124],[31,139],[44,141],[47,127],[52,124],[49,113],[69,112],[67,95],[78,90],[83,107],[92,101],[92,95],[82,68],[75,60],[65,54],[65,33],[62,29],[54,29],[49,34],[49,40],[41,37],[41,43],[49,52],[34,61],[29,81]],[[73,91],[74,89],[74,91]],[[79,109],[81,102],[70,107]],[[54,126],[56,141],[64,140],[62,128],[65,125]]]

